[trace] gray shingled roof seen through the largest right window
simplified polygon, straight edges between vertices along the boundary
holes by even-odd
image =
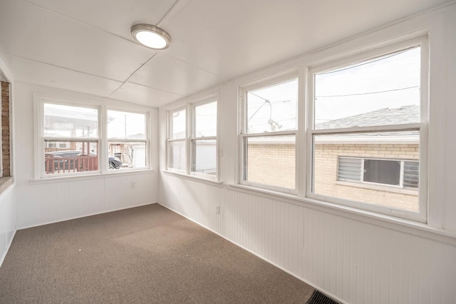
[[[400,108],[380,108],[380,110],[355,116],[317,123],[316,129],[351,128],[353,126],[385,126],[403,123],[418,123],[420,107],[416,105],[401,106]]]

